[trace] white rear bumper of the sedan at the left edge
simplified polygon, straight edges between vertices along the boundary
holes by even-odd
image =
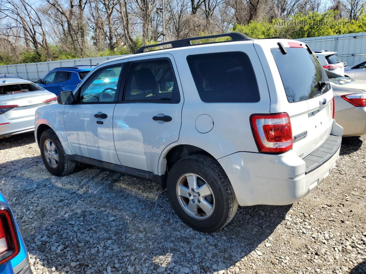
[[[8,120],[2,114],[0,114],[0,124],[2,123],[7,123],[5,125],[0,125],[0,138],[5,138],[14,134],[34,130],[34,115]]]

